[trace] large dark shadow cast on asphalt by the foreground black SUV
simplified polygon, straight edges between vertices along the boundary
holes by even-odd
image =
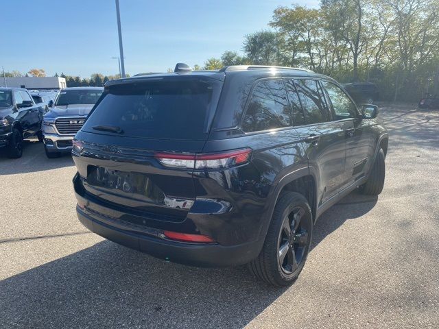
[[[313,247],[376,202],[348,195],[320,217]],[[102,241],[2,280],[0,326],[242,328],[287,289],[294,285],[270,287],[246,267],[187,267]]]

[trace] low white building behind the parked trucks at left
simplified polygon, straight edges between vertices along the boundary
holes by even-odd
[[[64,77],[0,77],[0,87],[60,90],[66,86]]]

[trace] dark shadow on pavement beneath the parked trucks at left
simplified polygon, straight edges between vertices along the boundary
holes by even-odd
[[[23,141],[23,156],[18,159],[8,158],[5,149],[0,148],[0,175],[46,171],[70,167],[73,164],[70,154],[61,158],[47,158],[43,143],[35,139]]]

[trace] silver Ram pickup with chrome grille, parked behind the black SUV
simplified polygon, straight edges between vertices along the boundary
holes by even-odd
[[[75,87],[60,91],[43,119],[47,158],[58,158],[62,153],[71,152],[73,137],[103,90],[102,87]]]

